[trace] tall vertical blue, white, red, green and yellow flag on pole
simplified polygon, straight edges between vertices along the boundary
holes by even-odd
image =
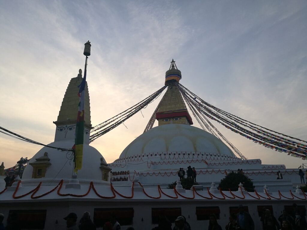
[[[76,138],[75,138],[75,170],[80,170],[82,168],[82,158],[83,158],[83,138],[84,138],[84,94],[85,94],[85,83],[86,83],[86,68],[84,70],[84,77],[82,82],[78,86],[80,98],[78,105],[78,117],[76,124]]]

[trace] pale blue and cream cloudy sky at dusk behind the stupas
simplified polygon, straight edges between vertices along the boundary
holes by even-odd
[[[90,40],[93,126],[161,88],[173,58],[180,83],[204,101],[307,140],[306,22],[306,1],[0,0],[0,126],[53,142],[52,122]],[[107,163],[143,133],[158,101],[91,144]],[[248,159],[305,162],[212,123]],[[6,168],[40,148],[0,133]]]

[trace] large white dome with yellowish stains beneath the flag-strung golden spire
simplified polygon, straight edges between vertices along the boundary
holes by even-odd
[[[119,159],[154,152],[207,152],[236,157],[212,134],[191,125],[161,125],[138,136],[122,151]]]

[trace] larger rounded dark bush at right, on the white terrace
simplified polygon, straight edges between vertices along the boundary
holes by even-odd
[[[223,191],[238,191],[240,182],[243,184],[243,187],[246,188],[248,192],[254,192],[254,184],[250,178],[244,174],[231,172],[228,173],[225,178],[221,179],[218,188],[221,188]]]

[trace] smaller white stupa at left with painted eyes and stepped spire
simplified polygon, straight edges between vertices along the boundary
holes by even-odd
[[[54,142],[49,146],[71,149],[75,144],[76,118],[79,98],[78,85],[82,81],[82,70],[76,78],[72,78],[65,92],[59,116],[53,123],[56,125]],[[109,184],[108,174],[111,170],[98,150],[89,146],[91,130],[90,97],[87,83],[84,99],[84,149],[82,169],[78,170],[80,183]],[[73,153],[53,148],[43,147],[29,161],[22,175],[22,183],[37,184],[42,181],[50,185],[58,184],[61,179],[70,180],[74,170]]]

